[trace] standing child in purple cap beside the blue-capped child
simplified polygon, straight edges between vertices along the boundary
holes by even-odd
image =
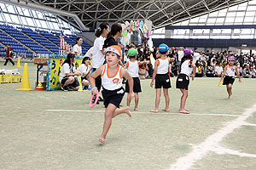
[[[192,81],[195,79],[195,63],[193,61],[193,56],[195,52],[192,49],[184,49],[183,63],[181,65],[180,74],[177,76],[176,88],[179,88],[182,92],[182,97],[180,99],[179,112],[183,114],[189,114],[189,110],[185,109],[186,100],[189,94],[189,77],[192,77]],[[193,75],[190,73],[193,71]]]

